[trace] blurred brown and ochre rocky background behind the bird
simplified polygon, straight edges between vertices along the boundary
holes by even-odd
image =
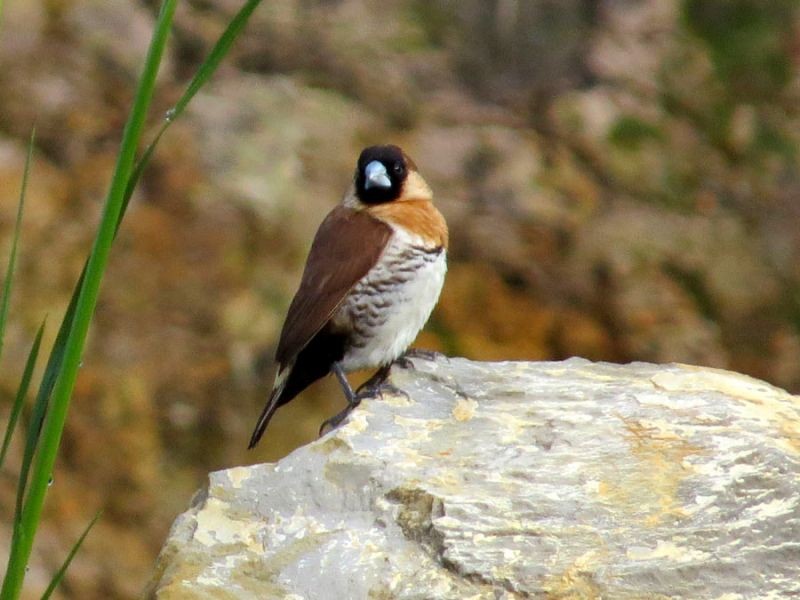
[[[181,3],[151,130],[240,6]],[[157,10],[4,7],[3,261],[34,124],[37,142],[2,423],[88,252]],[[681,361],[800,391],[799,66],[795,0],[265,1],[134,196],[30,597],[98,509],[59,597],[137,596],[208,471],[278,459],[343,405],[316,385],[245,450],[311,239],[365,145],[402,145],[450,225],[418,346]],[[20,454],[0,473],[3,540]]]

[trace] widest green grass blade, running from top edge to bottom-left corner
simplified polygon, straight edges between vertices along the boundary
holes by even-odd
[[[69,328],[69,334],[64,344],[61,369],[53,387],[42,427],[39,448],[19,520],[19,528],[15,528],[15,535],[12,539],[8,569],[0,590],[0,597],[4,599],[18,598],[22,590],[25,567],[30,558],[33,539],[41,519],[44,497],[61,442],[61,434],[66,421],[69,400],[75,387],[89,322],[97,304],[100,283],[108,263],[111,243],[116,234],[123,195],[132,173],[136,149],[155,89],[156,74],[166,47],[176,6],[177,0],[165,0],[161,5],[142,76],[136,90],[136,98],[125,125],[103,215],[86,265],[83,285],[80,286],[80,293],[75,303],[72,326]]]

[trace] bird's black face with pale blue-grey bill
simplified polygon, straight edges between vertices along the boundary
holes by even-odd
[[[408,176],[408,164],[397,146],[370,146],[358,157],[356,194],[366,204],[396,200]]]

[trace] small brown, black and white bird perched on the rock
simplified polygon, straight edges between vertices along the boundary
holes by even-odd
[[[359,390],[382,384],[439,299],[448,235],[414,161],[395,145],[365,148],[341,202],[314,236],[275,352],[272,391],[248,448],[278,408],[331,372],[347,406],[320,433],[361,401],[346,373],[378,369]]]

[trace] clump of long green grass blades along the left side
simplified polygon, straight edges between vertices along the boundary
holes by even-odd
[[[166,121],[161,126],[153,142],[146,148],[141,158],[136,161],[136,151],[144,129],[150,101],[153,97],[155,79],[166,47],[177,0],[165,0],[161,6],[133,107],[123,133],[117,163],[97,235],[59,328],[34,402],[17,484],[17,502],[8,568],[3,579],[2,589],[0,589],[0,598],[3,600],[18,598],[22,590],[33,541],[41,519],[45,493],[52,482],[53,467],[66,422],[69,401],[74,389],[78,368],[80,367],[89,324],[97,304],[100,284],[108,263],[112,243],[119,230],[133,190],[161,136],[214,73],[259,2],[260,0],[249,0],[232,19],[178,103],[168,113]],[[22,215],[22,204],[32,147],[33,138],[31,139],[28,162],[26,163],[23,177],[17,232]],[[7,297],[10,294],[10,277],[16,257],[17,238],[18,234],[15,233],[2,304],[0,304],[6,312]],[[0,326],[4,322],[5,316],[3,314],[2,319],[0,319]],[[28,364],[17,394],[17,401],[12,408],[12,419],[8,425],[2,456],[5,455],[14,424],[24,402],[33,365],[38,355],[42,331],[43,329],[40,328],[28,358]],[[1,327],[0,338],[2,338]],[[44,597],[49,597],[61,581],[78,548],[98,517],[99,513],[89,523],[77,543],[73,546],[64,564],[51,581]]]

